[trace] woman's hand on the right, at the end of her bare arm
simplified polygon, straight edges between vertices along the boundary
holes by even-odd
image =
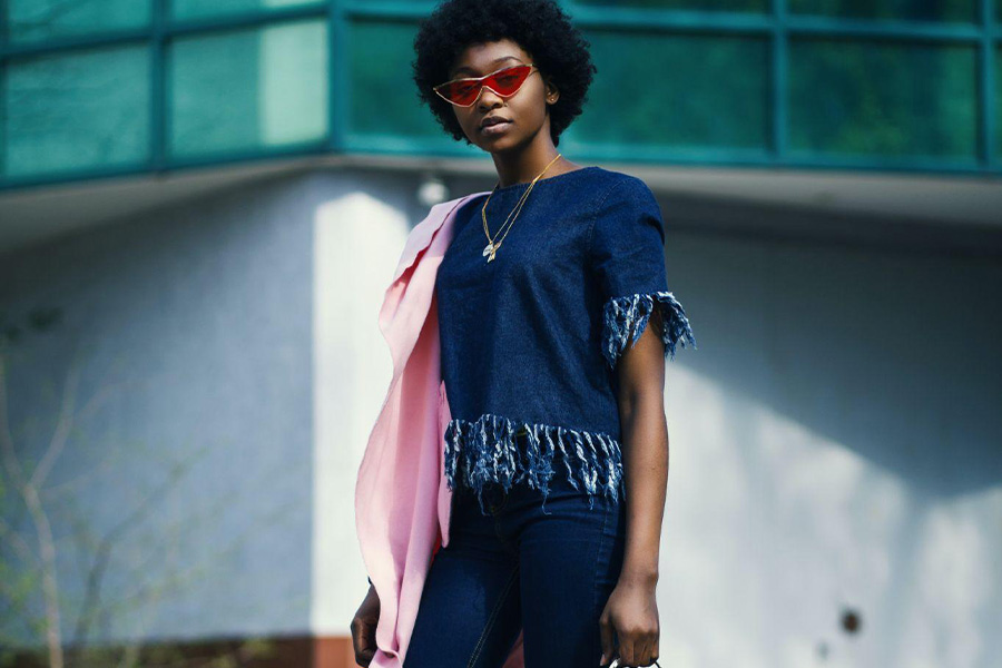
[[[620,666],[650,666],[658,658],[658,602],[656,583],[620,578],[599,618],[602,633],[601,666],[618,655]],[[619,638],[613,647],[612,631]]]

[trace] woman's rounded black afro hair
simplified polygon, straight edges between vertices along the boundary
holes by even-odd
[[[432,88],[449,79],[450,68],[471,45],[511,39],[532,57],[540,71],[560,91],[550,106],[553,146],[581,114],[597,68],[589,43],[552,0],[446,0],[421,21],[412,62],[418,96],[439,124],[456,140],[466,138],[452,105]]]

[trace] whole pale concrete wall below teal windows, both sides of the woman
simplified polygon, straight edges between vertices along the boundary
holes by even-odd
[[[0,312],[65,314],[18,346],[26,458],[73,352],[81,397],[126,383],[53,470],[67,596],[89,549],[75,513],[101,536],[191,464],[121,539],[102,596],[166,589],[97,635],[348,633],[367,587],[354,479],[391,374],[376,315],[426,213],[415,187],[313,174],[0,258]],[[699,348],[668,373],[660,664],[994,666],[1002,266],[703,235],[662,210]]]

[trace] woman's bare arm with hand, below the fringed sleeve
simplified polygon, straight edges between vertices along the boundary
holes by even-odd
[[[655,593],[668,484],[660,327],[656,310],[637,343],[623,351],[617,364],[627,542],[619,581],[600,619],[602,665],[613,656],[626,666],[650,666],[658,658],[660,626]],[[615,648],[613,629],[619,640]]]

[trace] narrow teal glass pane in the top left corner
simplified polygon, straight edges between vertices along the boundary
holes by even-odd
[[[145,28],[150,16],[150,0],[7,0],[11,43]]]

